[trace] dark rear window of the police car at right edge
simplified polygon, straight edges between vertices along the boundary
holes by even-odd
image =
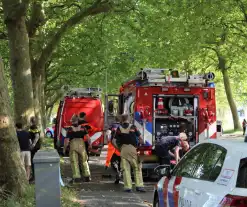
[[[247,157],[240,160],[237,188],[247,188]]]

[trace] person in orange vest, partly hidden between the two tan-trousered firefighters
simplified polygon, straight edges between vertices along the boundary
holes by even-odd
[[[107,156],[106,156],[106,162],[105,162],[105,169],[107,170],[108,167],[111,164],[111,167],[116,172],[116,180],[115,184],[119,184],[120,178],[121,178],[121,170],[120,170],[120,152],[116,147],[112,144],[112,140],[115,139],[117,128],[120,126],[119,118],[116,117],[116,122],[111,125],[109,130],[106,132],[106,135],[108,137],[108,150],[107,150]]]

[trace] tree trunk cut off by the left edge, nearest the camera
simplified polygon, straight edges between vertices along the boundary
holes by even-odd
[[[10,99],[2,60],[0,60],[0,106],[0,189],[3,188],[7,194],[22,196],[27,179],[10,113]]]

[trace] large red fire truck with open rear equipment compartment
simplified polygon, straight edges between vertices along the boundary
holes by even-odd
[[[118,114],[127,113],[141,131],[145,144],[139,148],[144,169],[157,166],[154,144],[159,136],[176,136],[186,124],[190,146],[216,138],[216,100],[213,73],[179,74],[169,69],[142,69],[125,82],[120,93],[106,97],[118,101]],[[109,108],[109,107],[108,107]],[[105,124],[112,114],[105,110]]]

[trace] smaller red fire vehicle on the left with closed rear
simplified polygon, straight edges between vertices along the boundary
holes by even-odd
[[[104,136],[104,114],[102,102],[100,99],[100,88],[70,88],[64,86],[63,90],[65,95],[63,100],[60,101],[56,127],[54,133],[54,146],[58,151],[64,146],[64,138],[67,134],[67,129],[71,126],[71,118],[73,114],[79,114],[80,112],[86,113],[86,121],[95,130],[89,131],[89,136],[92,141],[92,152],[94,154],[100,154],[103,147]]]

